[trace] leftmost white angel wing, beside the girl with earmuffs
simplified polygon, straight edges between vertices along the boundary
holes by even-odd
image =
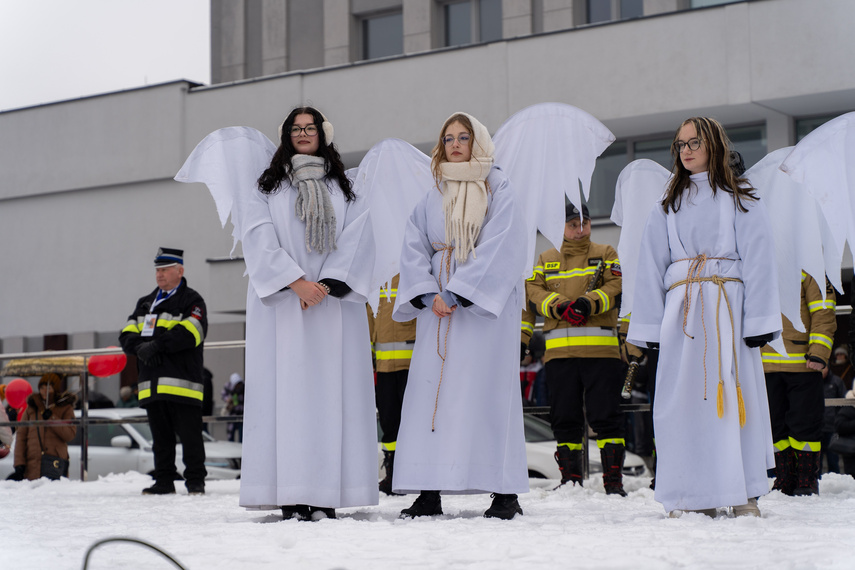
[[[175,175],[178,182],[204,182],[226,227],[241,193],[257,188],[258,177],[270,165],[276,145],[251,127],[227,127],[202,139]],[[239,216],[232,215],[232,237],[241,238]],[[234,249],[232,249],[234,251]]]

